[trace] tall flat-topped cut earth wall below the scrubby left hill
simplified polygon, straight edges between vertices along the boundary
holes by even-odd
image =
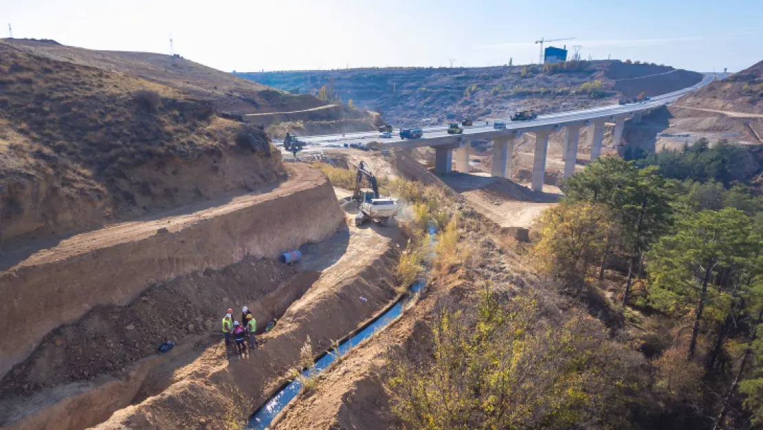
[[[5,255],[2,263],[10,268],[0,272],[0,293],[8,298],[0,302],[0,375],[53,328],[95,306],[124,305],[152,283],[330,237],[344,221],[330,183],[307,167],[290,173],[259,192]]]

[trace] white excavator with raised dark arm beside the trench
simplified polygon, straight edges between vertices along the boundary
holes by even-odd
[[[361,188],[364,182],[368,183],[367,188]],[[358,166],[353,200],[358,202],[359,211],[355,217],[355,225],[358,227],[369,219],[376,220],[381,225],[388,225],[389,221],[398,215],[398,199],[379,196],[376,176],[371,173],[365,161],[361,161]]]

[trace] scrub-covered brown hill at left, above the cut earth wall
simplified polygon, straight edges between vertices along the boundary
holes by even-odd
[[[218,118],[210,102],[5,42],[0,52],[3,244],[60,237],[283,177],[266,135]]]

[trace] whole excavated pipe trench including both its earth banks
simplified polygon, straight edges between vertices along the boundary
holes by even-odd
[[[288,170],[285,182],[245,196],[4,262],[0,282],[16,299],[0,304],[11,329],[0,349],[0,428],[219,428],[284,385],[308,338],[327,351],[394,305],[402,234],[356,228],[319,170]],[[298,248],[303,261],[277,262]],[[219,325],[241,306],[258,331],[278,323],[259,349],[229,357]],[[29,309],[36,324],[14,325]],[[175,348],[156,354],[167,340]]]

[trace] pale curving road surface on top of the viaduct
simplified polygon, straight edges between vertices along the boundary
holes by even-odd
[[[652,108],[657,108],[662,105],[668,105],[671,102],[679,99],[682,95],[688,92],[697,91],[701,87],[713,82],[715,75],[707,73],[702,81],[698,82],[694,86],[690,86],[685,89],[681,89],[675,92],[668,92],[663,95],[655,95],[651,100],[647,102],[636,102],[628,105],[607,105],[599,106],[597,108],[582,109],[577,111],[559,112],[549,115],[539,115],[538,118],[531,121],[510,121],[505,119],[505,130],[495,130],[493,128],[493,121],[477,122],[472,127],[465,127],[461,136],[472,136],[472,138],[490,138],[491,136],[500,136],[507,134],[515,134],[517,132],[530,132],[536,130],[543,130],[549,128],[563,127],[571,124],[584,124],[588,121],[602,121],[611,117],[628,117],[637,112],[644,112]],[[375,141],[379,147],[423,147],[433,146],[439,144],[447,144],[452,142],[454,138],[459,135],[447,134],[448,127],[446,125],[435,125],[430,127],[422,127],[423,137],[414,140],[402,140],[398,132],[394,132],[392,137],[381,138],[378,131],[363,131],[359,133],[347,133],[347,134],[326,134],[320,136],[304,136],[299,137],[300,141],[304,141],[308,144],[307,148],[319,149],[320,147],[336,147],[343,146],[344,144],[351,143],[364,143]],[[449,137],[449,139],[443,139]],[[307,149],[305,148],[305,149]]]

